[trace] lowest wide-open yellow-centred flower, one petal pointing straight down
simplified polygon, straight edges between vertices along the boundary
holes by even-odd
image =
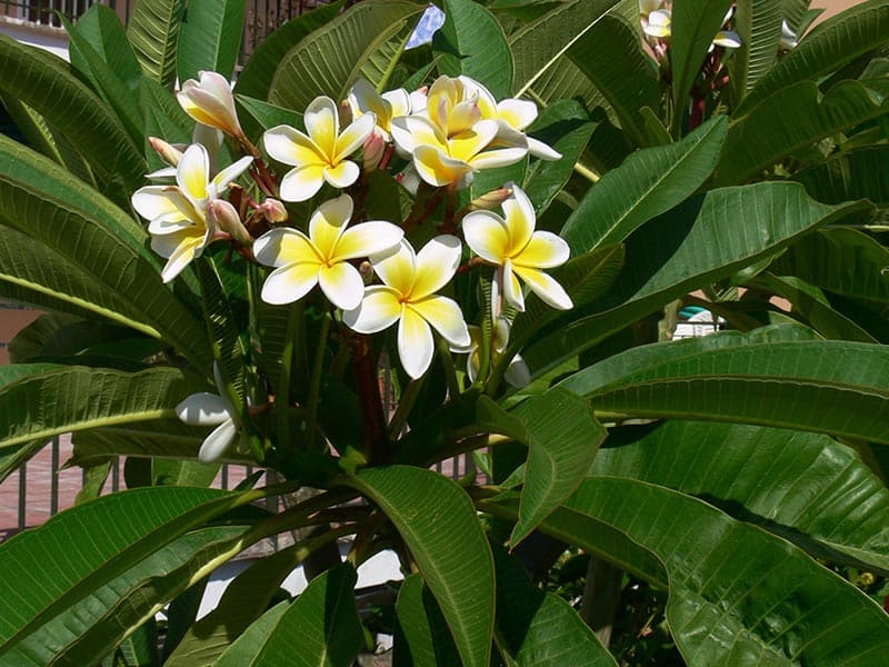
[[[398,322],[398,356],[413,379],[432,362],[432,329],[452,348],[470,344],[460,306],[436,292],[444,287],[460,265],[460,239],[441,235],[414,255],[402,240],[394,252],[371,256],[373,270],[383,285],[364,290],[360,306],[342,313],[342,321],[359,334],[376,334]]]

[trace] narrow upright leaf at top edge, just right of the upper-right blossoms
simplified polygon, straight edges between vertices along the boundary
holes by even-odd
[[[729,86],[740,101],[778,59],[781,41],[781,3],[775,0],[739,0],[735,31],[741,46],[729,60]]]

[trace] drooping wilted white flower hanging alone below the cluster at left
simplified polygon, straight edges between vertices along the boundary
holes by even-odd
[[[219,368],[213,366],[219,394],[201,391],[192,394],[176,406],[179,419],[189,426],[216,426],[210,435],[203,439],[198,450],[198,458],[204,464],[212,464],[221,459],[243,438],[238,411],[227,398],[223,398],[222,378]],[[240,435],[240,438],[239,438]]]

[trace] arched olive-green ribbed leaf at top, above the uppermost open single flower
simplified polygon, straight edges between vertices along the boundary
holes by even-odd
[[[319,94],[346,99],[364,62],[421,10],[418,4],[399,0],[356,4],[281,58],[269,87],[269,101],[301,112]]]

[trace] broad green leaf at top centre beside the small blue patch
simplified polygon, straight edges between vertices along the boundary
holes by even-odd
[[[444,0],[444,24],[432,37],[442,74],[466,74],[491,91],[495,99],[509,97],[512,58],[498,20],[472,0]]]

